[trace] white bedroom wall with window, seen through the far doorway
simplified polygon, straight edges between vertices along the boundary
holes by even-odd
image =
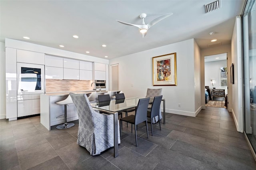
[[[204,63],[204,81],[205,85],[209,86],[212,89],[212,79],[215,79],[214,87],[216,89],[225,89],[226,93],[228,92],[227,86],[220,86],[220,67],[227,67],[226,60],[220,61],[210,61]],[[227,67],[227,71],[229,72],[230,68]]]

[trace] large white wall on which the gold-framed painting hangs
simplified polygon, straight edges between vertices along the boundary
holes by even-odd
[[[152,57],[169,53],[176,53],[177,86],[153,86]],[[199,49],[196,49],[196,54],[199,55],[198,53]],[[119,64],[119,90],[122,90],[126,97],[145,97],[147,88],[162,88],[163,99],[166,99],[166,112],[193,117],[196,115],[194,82],[197,81],[200,88],[200,81],[198,80],[200,76],[195,79],[194,67],[200,64],[194,65],[194,39],[109,61],[109,65],[117,63]],[[201,95],[200,92],[198,95]],[[196,100],[200,100],[198,97],[196,98]],[[181,107],[178,107],[178,103],[181,104]]]

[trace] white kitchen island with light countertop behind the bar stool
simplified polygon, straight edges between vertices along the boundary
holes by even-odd
[[[93,91],[70,91],[59,93],[46,93],[40,95],[40,123],[48,130],[51,126],[64,123],[64,105],[58,105],[56,102],[66,99],[69,93],[90,95]],[[107,91],[97,91],[97,93],[105,93]],[[63,115],[63,116],[60,116]],[[60,117],[59,117],[60,116]],[[78,120],[78,115],[74,104],[67,106],[67,122]]]

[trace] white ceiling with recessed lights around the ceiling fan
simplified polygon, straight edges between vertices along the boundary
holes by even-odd
[[[0,41],[11,38],[82,54],[90,51],[86,55],[107,55],[107,59],[191,38],[200,48],[208,48],[212,39],[222,45],[230,43],[235,17],[242,14],[245,0],[222,0],[221,8],[206,13],[204,4],[212,1],[1,0]],[[139,14],[146,13],[147,24],[169,12],[173,15],[152,26],[144,38],[138,28],[116,21],[141,24]]]

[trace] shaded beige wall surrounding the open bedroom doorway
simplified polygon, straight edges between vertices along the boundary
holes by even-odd
[[[202,99],[204,99],[204,83],[205,83],[205,75],[204,75],[204,57],[208,56],[208,55],[216,55],[216,54],[222,54],[222,53],[227,53],[227,57],[228,57],[228,68],[230,68],[231,65],[231,45],[230,44],[226,44],[226,45],[220,45],[218,47],[211,47],[211,48],[206,48],[206,49],[201,49],[200,54],[201,54],[201,95],[202,95]],[[229,71],[230,69],[228,69]],[[228,73],[229,74],[229,73]],[[209,86],[209,87],[212,87]],[[230,79],[228,77],[228,111],[231,112],[231,110],[229,109],[230,107],[232,107],[232,87],[230,85]],[[205,101],[202,100],[202,109],[205,109]]]

